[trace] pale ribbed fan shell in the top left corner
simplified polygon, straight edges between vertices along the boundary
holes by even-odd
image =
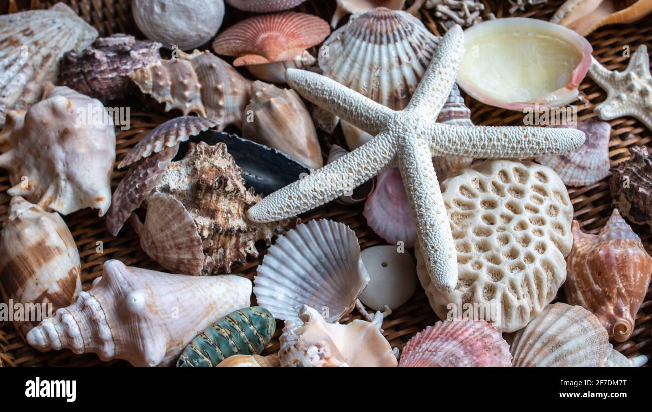
[[[0,128],[8,111],[29,109],[57,80],[63,53],[82,50],[97,35],[63,3],[0,16]]]

